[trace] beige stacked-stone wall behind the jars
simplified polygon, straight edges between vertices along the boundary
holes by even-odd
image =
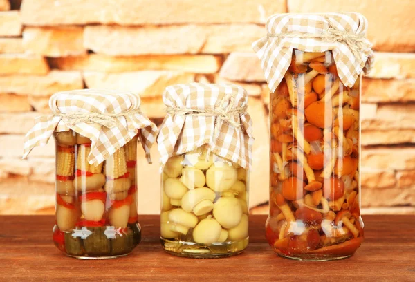
[[[246,87],[255,125],[250,207],[268,200],[268,88],[251,43],[277,12],[362,12],[374,43],[363,81],[362,207],[415,214],[415,1],[0,0],[0,214],[52,214],[54,144],[21,161],[48,97],[76,88],[134,91],[156,123],[183,82]],[[159,212],[158,153],[138,161],[139,212]],[[266,212],[266,205],[252,209]]]

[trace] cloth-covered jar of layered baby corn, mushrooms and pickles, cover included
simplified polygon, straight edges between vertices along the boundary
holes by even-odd
[[[77,111],[69,107],[75,101]],[[24,156],[46,144],[52,133],[55,137],[53,242],[68,256],[109,259],[129,254],[140,243],[137,144],[140,139],[148,153],[154,137],[143,136],[156,135],[156,126],[139,105],[139,97],[131,93],[56,93],[50,98],[54,116],[41,118],[26,135],[30,146]]]

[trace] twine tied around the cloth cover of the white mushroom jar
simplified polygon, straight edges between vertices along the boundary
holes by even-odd
[[[228,104],[225,106],[226,103]],[[239,118],[235,120],[234,115],[245,113],[246,109],[246,104],[234,107],[234,97],[232,95],[225,95],[219,106],[216,106],[214,109],[183,109],[172,106],[166,107],[166,111],[169,115],[192,115],[206,117],[217,116],[237,129],[241,127],[241,120]]]

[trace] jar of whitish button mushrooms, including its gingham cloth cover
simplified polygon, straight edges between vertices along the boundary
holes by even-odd
[[[253,142],[246,92],[232,84],[186,84],[167,87],[163,100],[162,246],[194,258],[239,254],[248,245]]]

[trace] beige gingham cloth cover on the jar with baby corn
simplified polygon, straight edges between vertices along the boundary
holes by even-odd
[[[95,89],[62,91],[50,97],[49,106],[53,115],[37,118],[26,134],[23,158],[34,147],[46,145],[53,132],[72,129],[91,139],[89,163],[100,164],[140,129],[139,139],[147,161],[151,162],[150,149],[156,140],[157,126],[140,112],[138,95]]]

